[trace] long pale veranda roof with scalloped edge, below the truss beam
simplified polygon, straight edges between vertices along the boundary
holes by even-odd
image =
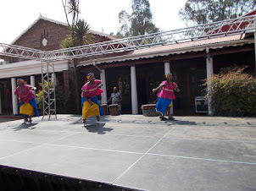
[[[102,63],[116,63],[125,62],[128,60],[138,60],[142,58],[152,58],[152,57],[164,57],[172,54],[183,54],[186,52],[200,52],[209,49],[218,49],[226,46],[243,46],[246,44],[254,43],[252,39],[244,39],[245,35],[231,35],[216,37],[207,40],[189,41],[182,42],[167,46],[155,46],[147,47],[144,49],[131,51],[125,55],[115,56],[115,57],[101,57],[82,61],[78,66],[88,66],[91,64],[102,64]]]

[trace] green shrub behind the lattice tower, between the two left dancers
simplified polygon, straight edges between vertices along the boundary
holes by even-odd
[[[53,88],[53,83],[49,84],[50,89]],[[44,83],[43,89],[47,91],[47,83]],[[67,105],[69,101],[69,93],[64,93],[63,90],[61,89],[60,85],[55,86],[55,96],[56,96],[56,112],[59,113],[65,113],[67,112]],[[53,94],[51,94],[51,99],[53,98]],[[47,101],[47,98],[46,98]],[[39,91],[36,94],[36,102],[37,102],[37,107],[39,113],[42,115],[42,90]],[[52,108],[52,107],[51,107]]]

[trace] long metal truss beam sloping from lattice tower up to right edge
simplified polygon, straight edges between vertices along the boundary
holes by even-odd
[[[255,15],[229,19],[210,24],[170,30],[148,35],[138,35],[129,38],[93,43],[86,46],[76,46],[48,52],[54,60],[90,57],[114,52],[126,52],[151,46],[164,46],[186,41],[199,41],[227,35],[237,35],[255,30]]]

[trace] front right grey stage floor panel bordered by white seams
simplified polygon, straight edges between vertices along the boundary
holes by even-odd
[[[146,155],[115,184],[142,190],[254,190],[255,172],[255,165]]]

